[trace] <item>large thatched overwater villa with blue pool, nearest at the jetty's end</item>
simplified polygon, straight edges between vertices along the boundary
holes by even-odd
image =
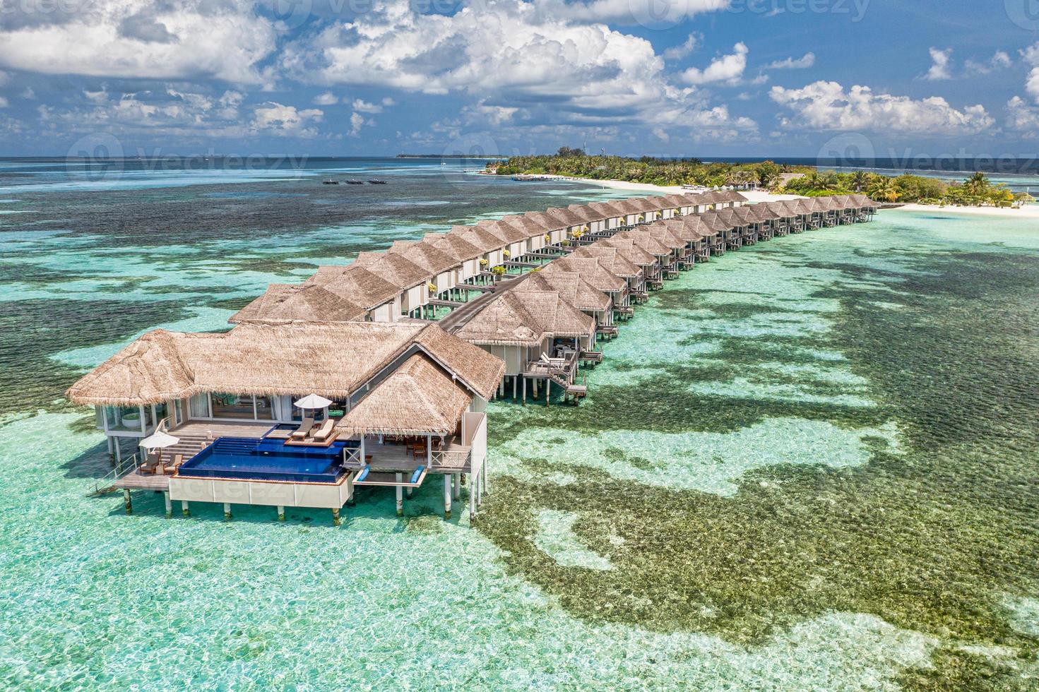
[[[584,317],[584,315],[582,315]],[[393,487],[398,513],[430,475],[445,513],[485,487],[486,402],[504,364],[431,324],[241,324],[157,329],[69,389],[92,405],[117,457],[111,478],[180,501],[331,510],[356,488]],[[155,451],[119,458],[129,438]]]

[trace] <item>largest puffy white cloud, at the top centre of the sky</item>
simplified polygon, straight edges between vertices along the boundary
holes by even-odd
[[[593,6],[605,11],[595,3],[499,0],[445,16],[419,14],[408,0],[376,0],[353,21],[289,44],[282,65],[297,79],[329,85],[471,94],[530,110],[534,122],[660,125],[664,111],[697,121],[707,105],[693,90],[668,84],[648,41],[570,18]]]

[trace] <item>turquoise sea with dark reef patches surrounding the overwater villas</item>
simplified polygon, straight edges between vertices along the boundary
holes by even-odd
[[[668,282],[578,407],[491,404],[471,525],[87,497],[79,374],[452,223],[609,196],[439,162],[0,165],[0,685],[1035,689],[1039,231],[882,212]],[[322,186],[323,177],[385,186]],[[185,180],[185,179],[190,180]],[[132,179],[132,180],[131,180]]]

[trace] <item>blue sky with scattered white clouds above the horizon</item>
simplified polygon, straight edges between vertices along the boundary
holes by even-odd
[[[0,155],[1039,151],[1039,0],[0,0]]]

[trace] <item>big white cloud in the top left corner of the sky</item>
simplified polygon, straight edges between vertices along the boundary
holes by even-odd
[[[105,0],[79,3],[75,14],[55,11],[49,22],[39,21],[34,6],[9,4],[4,7],[7,28],[0,28],[3,66],[101,77],[269,81],[258,63],[274,51],[276,27],[246,0]]]

